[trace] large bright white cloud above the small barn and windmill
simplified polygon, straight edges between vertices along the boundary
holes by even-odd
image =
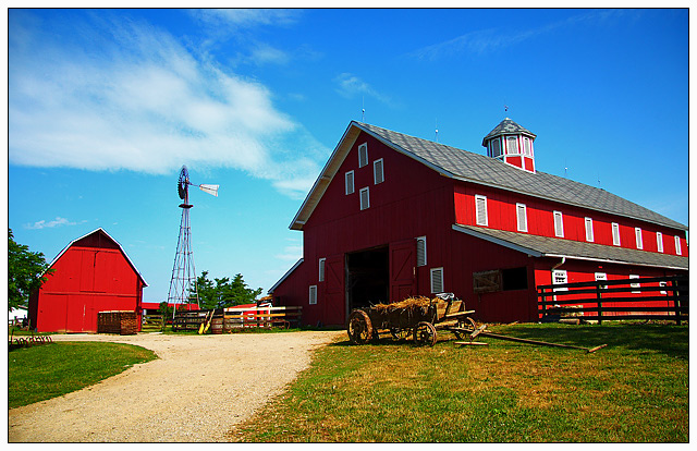
[[[240,26],[269,20],[234,11],[228,19]],[[186,163],[241,169],[294,197],[311,186],[315,161],[328,150],[274,108],[262,84],[146,23],[112,19],[61,29],[33,19],[10,13],[11,163],[152,174]],[[57,40],[61,34],[70,38]],[[282,58],[269,47],[259,52]]]

